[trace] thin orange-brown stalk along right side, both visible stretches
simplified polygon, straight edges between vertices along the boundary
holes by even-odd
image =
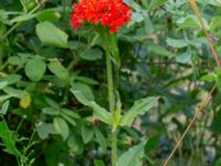
[[[194,1],[194,0],[189,0],[189,3],[190,3],[190,6],[191,6],[191,8],[193,9],[193,11],[194,11],[197,18],[198,18],[199,21],[200,21],[200,24],[201,24],[201,27],[202,27],[202,29],[203,29],[203,32],[204,32],[204,34],[206,34],[207,41],[208,41],[208,43],[209,43],[209,46],[210,46],[210,49],[211,49],[211,51],[212,51],[213,59],[214,59],[214,61],[215,61],[215,63],[217,63],[219,70],[221,70],[221,64],[220,64],[220,61],[219,61],[218,53],[217,53],[217,51],[215,51],[215,49],[214,49],[214,46],[213,46],[213,44],[212,44],[212,40],[211,40],[211,38],[210,38],[210,35],[209,35],[209,33],[208,33],[206,27],[204,27],[204,23],[202,22],[201,14],[200,14],[200,12],[199,12],[199,10],[198,10],[198,7],[197,7],[197,4],[196,4],[196,1]],[[196,108],[193,118],[190,121],[189,125],[188,125],[187,128],[185,129],[185,133],[181,135],[181,137],[179,138],[179,141],[178,141],[177,144],[175,145],[175,147],[173,147],[172,152],[170,153],[170,155],[168,156],[168,158],[165,160],[164,166],[167,166],[167,165],[168,165],[168,163],[169,163],[169,160],[171,159],[171,157],[173,156],[175,152],[177,151],[177,148],[179,147],[179,145],[182,143],[185,136],[187,135],[187,133],[190,131],[190,128],[191,128],[192,125],[194,124],[194,122],[196,122],[197,117],[199,116],[199,114],[200,114],[200,113],[202,112],[202,110],[209,104],[210,98],[212,97],[212,93],[214,92],[214,90],[215,90],[215,85],[212,86],[212,89],[210,90],[209,94],[204,97],[204,100],[203,100],[203,102],[202,102],[202,105],[201,105],[198,110]]]

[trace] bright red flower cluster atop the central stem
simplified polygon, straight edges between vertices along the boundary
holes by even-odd
[[[80,0],[80,3],[73,4],[73,10],[71,25],[75,30],[83,22],[90,22],[108,27],[113,33],[131,17],[130,8],[123,0]]]

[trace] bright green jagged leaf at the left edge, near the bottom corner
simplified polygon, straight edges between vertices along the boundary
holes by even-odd
[[[0,137],[6,146],[6,152],[14,156],[22,156],[15,146],[15,137],[12,135],[12,132],[9,129],[6,121],[0,122]]]

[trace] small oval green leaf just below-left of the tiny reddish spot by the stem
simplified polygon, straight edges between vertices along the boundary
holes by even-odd
[[[94,136],[94,131],[88,125],[82,125],[81,127],[82,138],[84,141],[84,144],[87,144]]]

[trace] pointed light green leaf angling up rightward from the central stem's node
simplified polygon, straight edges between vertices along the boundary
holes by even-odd
[[[138,116],[145,114],[152,106],[157,104],[159,97],[146,97],[138,100],[134,103],[133,107],[125,113],[122,117],[120,125],[130,125],[133,121]]]

